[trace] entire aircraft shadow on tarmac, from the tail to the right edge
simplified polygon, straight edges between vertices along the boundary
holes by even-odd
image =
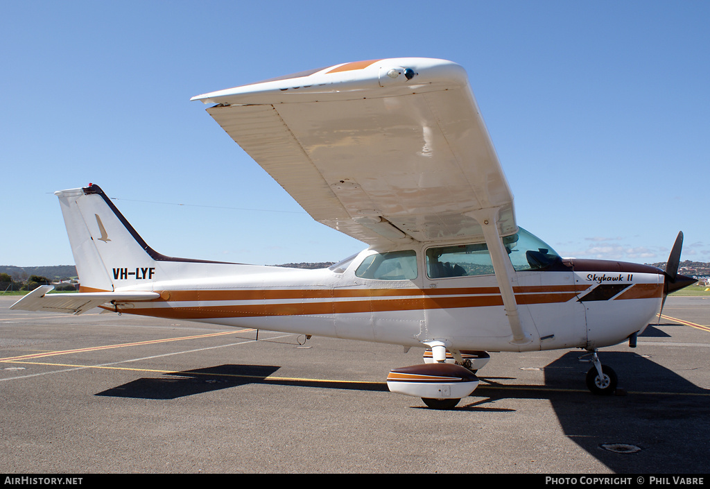
[[[644,336],[662,338],[668,335],[649,327]],[[617,395],[595,396],[586,390],[584,379],[591,364],[579,361],[582,353],[582,350],[565,353],[547,365],[544,385],[511,384],[514,378],[480,375],[479,389],[472,397],[462,399],[453,411],[510,416],[520,409],[520,404],[513,404],[513,408],[493,404],[503,399],[546,399],[554,409],[564,436],[613,472],[707,473],[710,470],[710,461],[702,448],[710,433],[710,391],[635,352],[602,350],[601,361],[616,370],[619,389]],[[171,372],[160,378],[142,378],[96,395],[176,399],[248,384],[387,391],[384,382],[333,382],[273,376],[279,368],[273,365],[218,365]],[[486,370],[494,373],[494,361]],[[546,450],[550,449],[550,443],[555,441],[540,440]],[[607,445],[617,451],[604,448]],[[570,461],[569,470],[574,472],[574,460]]]

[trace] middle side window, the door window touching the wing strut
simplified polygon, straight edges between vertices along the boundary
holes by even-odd
[[[426,263],[430,279],[496,273],[486,243],[429,248],[426,252]]]

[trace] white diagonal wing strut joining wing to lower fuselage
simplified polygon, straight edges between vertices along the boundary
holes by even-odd
[[[467,215],[474,217],[484,232],[486,238],[486,246],[488,252],[491,253],[491,262],[493,269],[496,271],[496,280],[498,281],[498,289],[501,289],[503,297],[503,308],[505,308],[508,322],[510,322],[510,331],[513,332],[513,340],[510,343],[514,345],[525,345],[532,341],[532,336],[525,333],[523,326],[520,323],[520,315],[518,314],[518,303],[515,302],[515,294],[513,293],[513,282],[510,277],[515,271],[510,260],[506,256],[506,247],[503,246],[503,240],[498,234],[498,212],[500,208],[486,208],[481,210],[473,210]]]

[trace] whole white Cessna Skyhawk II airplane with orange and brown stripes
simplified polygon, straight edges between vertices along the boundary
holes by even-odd
[[[518,227],[513,195],[466,72],[395,58],[198,95],[207,112],[317,221],[370,247],[328,269],[158,254],[95,185],[59,197],[79,294],[42,286],[12,308],[119,313],[426,348],[391,391],[448,408],[489,351],[587,350],[592,392],[616,375],[597,349],[636,336],[671,291],[667,269],[562,259]]]

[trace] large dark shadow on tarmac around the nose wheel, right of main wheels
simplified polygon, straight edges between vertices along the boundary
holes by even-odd
[[[666,333],[649,327],[645,337]],[[641,346],[641,345],[640,345]],[[480,394],[459,409],[485,409],[506,398],[549,399],[564,435],[615,473],[707,473],[710,461],[705,447],[710,433],[710,391],[635,352],[599,353],[604,365],[619,379],[613,396],[586,391],[586,371],[581,350],[562,355],[545,367],[545,385],[496,385],[481,376]],[[681,352],[677,354],[682,354]],[[549,446],[552,440],[540,440]],[[549,449],[549,448],[547,448]],[[574,459],[569,471],[574,472]]]

